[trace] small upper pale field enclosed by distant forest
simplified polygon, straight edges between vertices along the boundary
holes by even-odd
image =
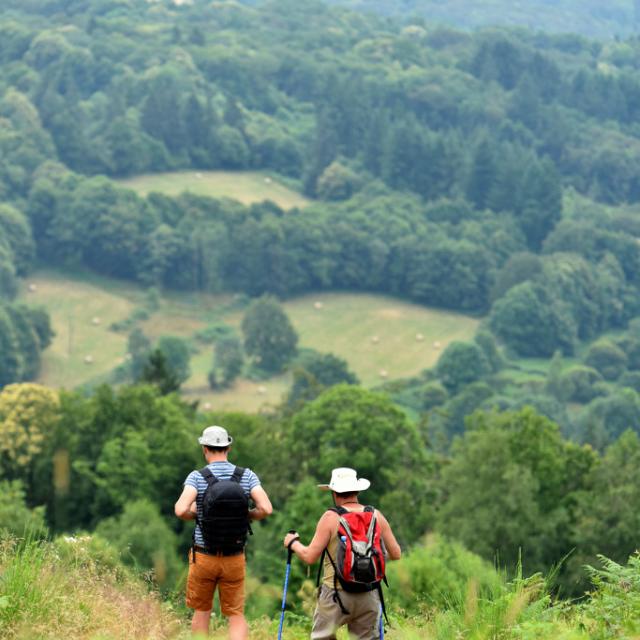
[[[232,198],[243,204],[271,200],[283,209],[304,207],[309,200],[259,171],[176,171],[120,180],[119,184],[146,196],[158,191],[177,196],[185,191],[211,198]]]

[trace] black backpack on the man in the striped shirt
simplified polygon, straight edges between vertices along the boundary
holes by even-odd
[[[247,543],[249,498],[240,485],[244,471],[242,467],[236,467],[229,480],[219,480],[209,467],[200,469],[207,488],[202,499],[202,517],[196,518],[196,522],[205,549],[210,553],[234,555]]]

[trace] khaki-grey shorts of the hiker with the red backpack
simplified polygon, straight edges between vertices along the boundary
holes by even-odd
[[[342,613],[333,600],[333,589],[322,585],[318,604],[313,614],[311,640],[336,640],[339,627],[347,626],[357,640],[380,638],[380,596],[377,591],[346,593],[340,591],[340,599],[349,614]]]

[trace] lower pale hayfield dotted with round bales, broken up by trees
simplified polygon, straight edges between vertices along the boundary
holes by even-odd
[[[35,285],[29,291],[27,284]],[[33,287],[32,287],[33,288]],[[25,283],[21,299],[44,305],[56,332],[44,353],[39,382],[73,388],[103,379],[124,361],[127,332],[109,329],[126,319],[144,300],[140,288],[106,279],[39,273]],[[193,337],[214,321],[239,328],[242,311],[228,311],[231,296],[172,294],[139,326],[151,338]],[[452,340],[466,340],[478,320],[402,302],[386,296],[324,293],[284,304],[300,336],[300,346],[344,358],[365,386],[411,376],[433,366]],[[267,381],[241,379],[232,389],[213,393],[207,385],[211,346],[198,349],[191,360],[192,375],[185,395],[216,409],[256,411],[277,404],[290,385],[290,374]],[[87,363],[89,357],[92,362]]]

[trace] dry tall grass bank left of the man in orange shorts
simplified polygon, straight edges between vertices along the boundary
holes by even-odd
[[[99,541],[0,541],[3,640],[165,640],[181,626]]]

